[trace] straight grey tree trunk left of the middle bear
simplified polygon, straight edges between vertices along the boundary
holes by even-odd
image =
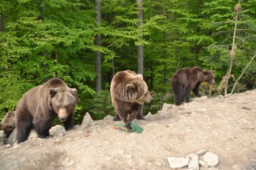
[[[95,0],[95,12],[96,12],[96,22],[98,26],[100,26],[101,19],[101,6],[100,0]],[[102,35],[96,35],[96,45],[101,46]],[[95,55],[95,64],[96,64],[96,92],[102,89],[101,84],[101,53],[99,51],[96,52]]]

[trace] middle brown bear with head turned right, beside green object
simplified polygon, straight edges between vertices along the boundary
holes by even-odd
[[[130,70],[117,72],[111,81],[110,93],[116,114],[114,120],[121,118],[125,127],[131,131],[131,121],[135,118],[144,119],[142,106],[153,99],[142,74]]]

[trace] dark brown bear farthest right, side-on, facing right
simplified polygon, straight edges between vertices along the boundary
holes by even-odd
[[[199,86],[203,81],[215,84],[213,71],[203,70],[200,67],[179,69],[171,79],[175,105],[181,105],[182,94],[184,102],[188,103],[191,90],[197,97],[201,97]]]

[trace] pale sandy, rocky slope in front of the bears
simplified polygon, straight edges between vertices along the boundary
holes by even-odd
[[[256,169],[256,90],[165,105],[136,120],[144,132],[115,130],[111,116],[50,139],[0,147],[0,169],[171,169],[169,157],[200,150],[218,155],[215,168]],[[188,169],[186,166],[183,169]],[[200,169],[206,169],[203,166]]]

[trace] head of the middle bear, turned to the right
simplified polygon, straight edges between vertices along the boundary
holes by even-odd
[[[143,80],[142,74],[132,76],[132,81],[126,85],[127,97],[129,101],[144,104],[145,102],[152,101],[152,96],[149,94],[148,86]]]

